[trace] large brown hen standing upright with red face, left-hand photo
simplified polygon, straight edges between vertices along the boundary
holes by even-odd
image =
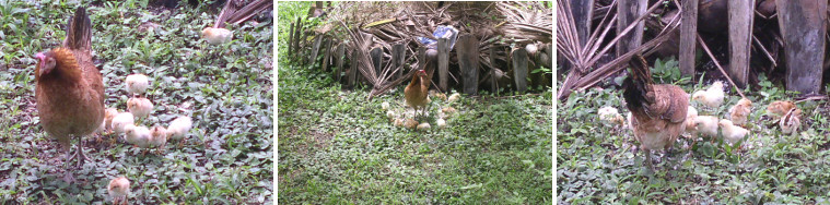
[[[37,53],[35,98],[40,125],[67,150],[67,161],[84,159],[83,145],[69,156],[71,137],[92,134],[104,121],[104,82],[92,62],[92,27],[86,9],[69,20],[61,48]],[[71,176],[70,176],[71,177]]]

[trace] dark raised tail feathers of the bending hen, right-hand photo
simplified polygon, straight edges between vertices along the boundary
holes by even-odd
[[[651,101],[646,94],[651,92],[651,84],[654,84],[652,74],[648,71],[648,64],[645,59],[636,55],[629,61],[631,72],[629,77],[622,83],[624,91],[622,97],[626,99],[629,110],[642,110],[643,104]]]

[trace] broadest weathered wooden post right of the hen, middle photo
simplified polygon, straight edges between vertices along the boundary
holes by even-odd
[[[464,93],[467,95],[478,94],[478,39],[471,34],[464,34],[458,38],[458,65],[461,70]]]

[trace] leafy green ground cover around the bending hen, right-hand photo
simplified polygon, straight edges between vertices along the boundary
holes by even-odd
[[[561,82],[560,82],[561,83]],[[667,82],[670,83],[670,82]],[[681,84],[687,93],[708,85]],[[710,143],[681,137],[671,156],[664,156],[654,171],[643,166],[643,153],[631,131],[599,122],[597,109],[612,106],[626,112],[621,89],[589,89],[574,93],[557,107],[557,195],[558,203],[615,204],[822,204],[830,185],[830,107],[826,101],[804,101],[802,129],[784,135],[765,107],[774,100],[792,100],[765,77],[756,89],[746,89],[752,100],[751,132],[740,152],[722,141]],[[721,108],[702,109],[700,114],[727,118],[728,108],[739,100],[734,91]],[[697,137],[695,137],[697,138]],[[663,156],[656,152],[655,156]]]

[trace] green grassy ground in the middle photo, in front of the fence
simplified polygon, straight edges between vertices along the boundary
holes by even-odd
[[[280,23],[279,33],[287,25]],[[404,86],[372,100],[366,87],[343,91],[317,65],[296,65],[284,53],[288,36],[279,36],[280,203],[552,202],[551,89],[504,99],[465,96],[452,105],[433,98],[432,129],[407,130],[381,108],[386,101],[401,113]],[[447,106],[458,112],[439,129],[434,116]]]

